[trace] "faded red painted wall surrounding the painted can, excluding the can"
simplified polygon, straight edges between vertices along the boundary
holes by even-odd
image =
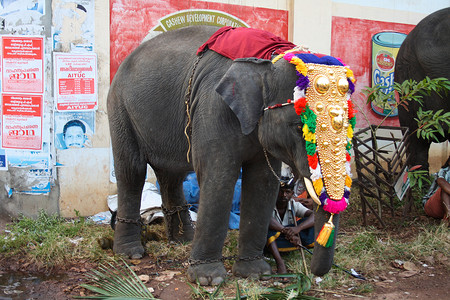
[[[357,79],[352,100],[360,111],[363,109],[371,124],[380,124],[383,117],[377,115],[366,104],[366,98],[361,94],[364,87],[371,85],[372,67],[372,36],[382,31],[397,31],[408,34],[415,25],[363,20],[354,18],[333,17],[331,55],[341,58],[350,66]],[[368,126],[363,115],[358,112],[357,127]],[[389,117],[385,126],[399,126],[398,117]]]

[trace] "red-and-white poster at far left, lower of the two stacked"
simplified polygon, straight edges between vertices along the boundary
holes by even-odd
[[[2,94],[2,148],[42,149],[42,95]]]

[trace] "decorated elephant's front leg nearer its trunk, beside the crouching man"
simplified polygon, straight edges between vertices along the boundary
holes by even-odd
[[[272,162],[274,169],[279,168],[279,165],[279,162]],[[239,259],[233,265],[233,274],[236,276],[259,278],[272,273],[262,253],[278,186],[278,180],[266,163],[243,166]]]

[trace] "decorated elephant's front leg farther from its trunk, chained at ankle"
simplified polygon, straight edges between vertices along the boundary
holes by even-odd
[[[227,272],[222,263],[222,247],[228,230],[234,187],[239,167],[208,165],[197,172],[200,186],[200,203],[194,242],[192,244],[188,280],[201,285],[218,285]]]

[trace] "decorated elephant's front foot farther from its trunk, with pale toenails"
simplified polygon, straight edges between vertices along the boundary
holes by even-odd
[[[227,275],[227,271],[222,262],[205,263],[191,265],[187,271],[187,278],[190,282],[200,285],[219,285]]]

